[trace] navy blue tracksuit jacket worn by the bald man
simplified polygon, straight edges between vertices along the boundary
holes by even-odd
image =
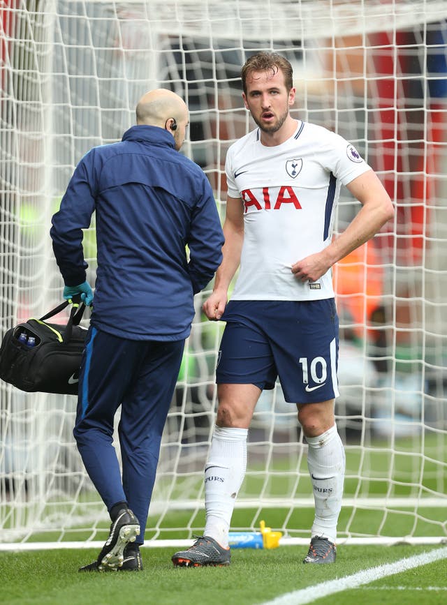
[[[78,285],[87,268],[82,229],[96,211],[91,325],[115,336],[189,336],[193,294],[221,263],[223,233],[212,188],[174,144],[163,128],[132,126],[122,142],[94,147],[80,160],[52,218],[64,283]]]

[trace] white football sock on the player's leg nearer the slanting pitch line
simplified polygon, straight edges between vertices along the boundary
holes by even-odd
[[[306,437],[309,445],[307,467],[314,488],[315,518],[312,537],[337,540],[337,521],[342,509],[345,455],[334,425],[323,435]]]

